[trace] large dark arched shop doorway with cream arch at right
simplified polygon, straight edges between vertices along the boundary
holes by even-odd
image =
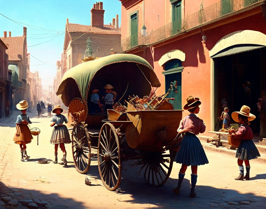
[[[248,105],[257,116],[251,123],[259,135],[258,98],[266,87],[266,35],[251,30],[236,31],[221,38],[210,50],[213,59],[214,121],[221,115],[225,104],[230,113]],[[231,114],[229,114],[231,115]],[[234,121],[232,121],[234,122]],[[221,127],[214,127],[218,131]]]

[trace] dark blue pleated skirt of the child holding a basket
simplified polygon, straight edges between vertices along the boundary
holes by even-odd
[[[260,157],[260,154],[252,140],[241,140],[235,157],[240,160],[252,160]]]

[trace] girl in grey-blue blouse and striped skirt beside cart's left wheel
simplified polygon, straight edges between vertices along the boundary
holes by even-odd
[[[54,109],[52,110],[53,113],[56,113],[55,116],[52,118],[52,124],[50,126],[54,126],[52,137],[50,140],[51,144],[55,145],[55,161],[53,163],[57,163],[57,150],[58,145],[60,146],[61,150],[63,151],[63,158],[61,159],[65,164],[67,164],[66,161],[66,148],[65,144],[71,143],[69,132],[67,130],[67,127],[63,125],[63,123],[68,123],[67,118],[62,115],[63,109],[60,105],[55,105]]]

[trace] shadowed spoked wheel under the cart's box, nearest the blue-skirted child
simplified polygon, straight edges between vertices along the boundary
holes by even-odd
[[[172,150],[146,153],[142,159],[145,181],[152,187],[163,186],[170,176],[173,161]]]

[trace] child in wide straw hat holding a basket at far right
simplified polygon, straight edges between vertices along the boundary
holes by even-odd
[[[253,139],[252,129],[248,126],[249,121],[253,121],[256,116],[250,113],[250,108],[243,105],[240,111],[233,112],[232,118],[234,121],[239,122],[240,127],[237,132],[235,129],[230,129],[229,133],[237,139],[241,139],[238,150],[235,157],[238,158],[238,167],[240,175],[235,180],[249,180],[250,164],[249,160],[256,159],[260,156],[257,147],[255,146]],[[243,161],[246,165],[246,175],[244,176]]]

